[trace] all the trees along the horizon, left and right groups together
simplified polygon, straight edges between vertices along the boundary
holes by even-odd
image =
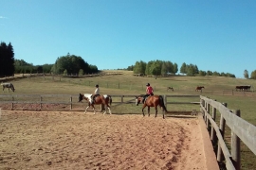
[[[149,62],[136,61],[135,65],[128,66],[126,70],[133,71],[134,74],[151,76],[176,75],[178,65],[172,61],[151,60]],[[13,76],[13,74],[54,74],[54,75],[84,75],[98,73],[96,65],[88,64],[82,57],[70,55],[59,57],[53,64],[33,65],[24,59],[15,59],[11,43],[0,43],[0,76]],[[216,71],[202,71],[197,65],[182,63],[180,73],[186,76],[230,76],[229,73],[218,73]],[[244,71],[245,78],[249,78],[247,70]],[[251,79],[256,79],[256,70],[250,74]]]

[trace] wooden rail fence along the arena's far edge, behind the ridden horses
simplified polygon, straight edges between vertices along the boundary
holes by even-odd
[[[165,105],[168,104],[196,104],[199,105],[200,95],[162,95]],[[123,104],[135,104],[136,94],[122,95],[111,94],[113,100],[113,106],[117,107]],[[171,101],[172,98],[189,98],[190,101]],[[195,101],[191,101],[191,98],[195,98]],[[9,105],[10,110],[19,110],[17,105],[30,105],[26,110],[47,110],[46,105],[58,105],[57,107],[51,107],[51,110],[78,110],[78,95],[71,94],[3,94],[0,95],[0,106]],[[33,105],[33,107],[31,107]],[[61,105],[61,106],[60,106]],[[198,107],[199,108],[199,107]],[[24,109],[23,109],[24,110]],[[79,109],[82,110],[82,109]],[[101,110],[104,110],[101,105]],[[192,110],[190,110],[192,111]]]

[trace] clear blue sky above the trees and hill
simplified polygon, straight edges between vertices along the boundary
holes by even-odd
[[[34,65],[70,53],[100,70],[159,59],[244,77],[256,70],[256,1],[0,0],[0,42]]]

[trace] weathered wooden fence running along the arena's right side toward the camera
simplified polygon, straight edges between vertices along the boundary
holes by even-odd
[[[256,127],[249,124],[244,119],[240,118],[240,110],[229,110],[226,103],[219,103],[215,100],[200,96],[201,112],[203,114],[206,126],[210,131],[210,140],[212,144],[217,144],[217,161],[226,161],[227,169],[240,170],[241,168],[241,152],[240,140],[256,154]],[[212,114],[210,115],[210,106]],[[221,114],[219,127],[217,126],[216,110]],[[225,125],[231,130],[231,145],[230,152],[224,142]]]

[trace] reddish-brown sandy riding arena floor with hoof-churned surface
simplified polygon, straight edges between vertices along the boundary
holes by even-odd
[[[0,169],[206,170],[203,138],[198,118],[2,110]]]

